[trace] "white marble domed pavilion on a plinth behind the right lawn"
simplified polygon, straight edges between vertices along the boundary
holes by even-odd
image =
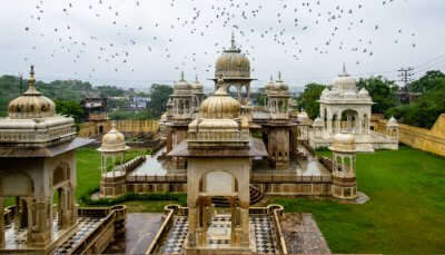
[[[384,136],[370,130],[370,108],[375,104],[369,92],[356,87],[356,80],[343,68],[332,88],[326,88],[319,99],[320,116],[314,121],[309,137],[312,147],[328,147],[334,135],[345,131],[356,139],[357,151],[398,149],[396,136]]]

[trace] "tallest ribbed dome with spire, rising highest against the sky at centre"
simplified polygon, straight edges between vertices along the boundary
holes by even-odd
[[[250,61],[236,48],[234,35],[230,49],[222,51],[216,60],[215,77],[250,78]]]

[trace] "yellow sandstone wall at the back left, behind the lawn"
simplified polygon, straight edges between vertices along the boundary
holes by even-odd
[[[112,120],[91,121],[80,125],[80,137],[98,136],[100,130],[108,133]],[[156,120],[116,120],[116,128],[121,133],[157,133],[159,124]]]

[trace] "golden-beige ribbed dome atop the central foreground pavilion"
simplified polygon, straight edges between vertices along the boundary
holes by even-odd
[[[218,90],[202,101],[200,106],[201,117],[207,119],[238,118],[241,105],[227,94],[221,79],[218,80]]]

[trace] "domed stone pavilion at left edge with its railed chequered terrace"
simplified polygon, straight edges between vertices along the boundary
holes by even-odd
[[[75,149],[91,140],[34,82],[31,67],[28,90],[0,119],[0,253],[100,253],[125,232],[126,209],[77,207]]]

